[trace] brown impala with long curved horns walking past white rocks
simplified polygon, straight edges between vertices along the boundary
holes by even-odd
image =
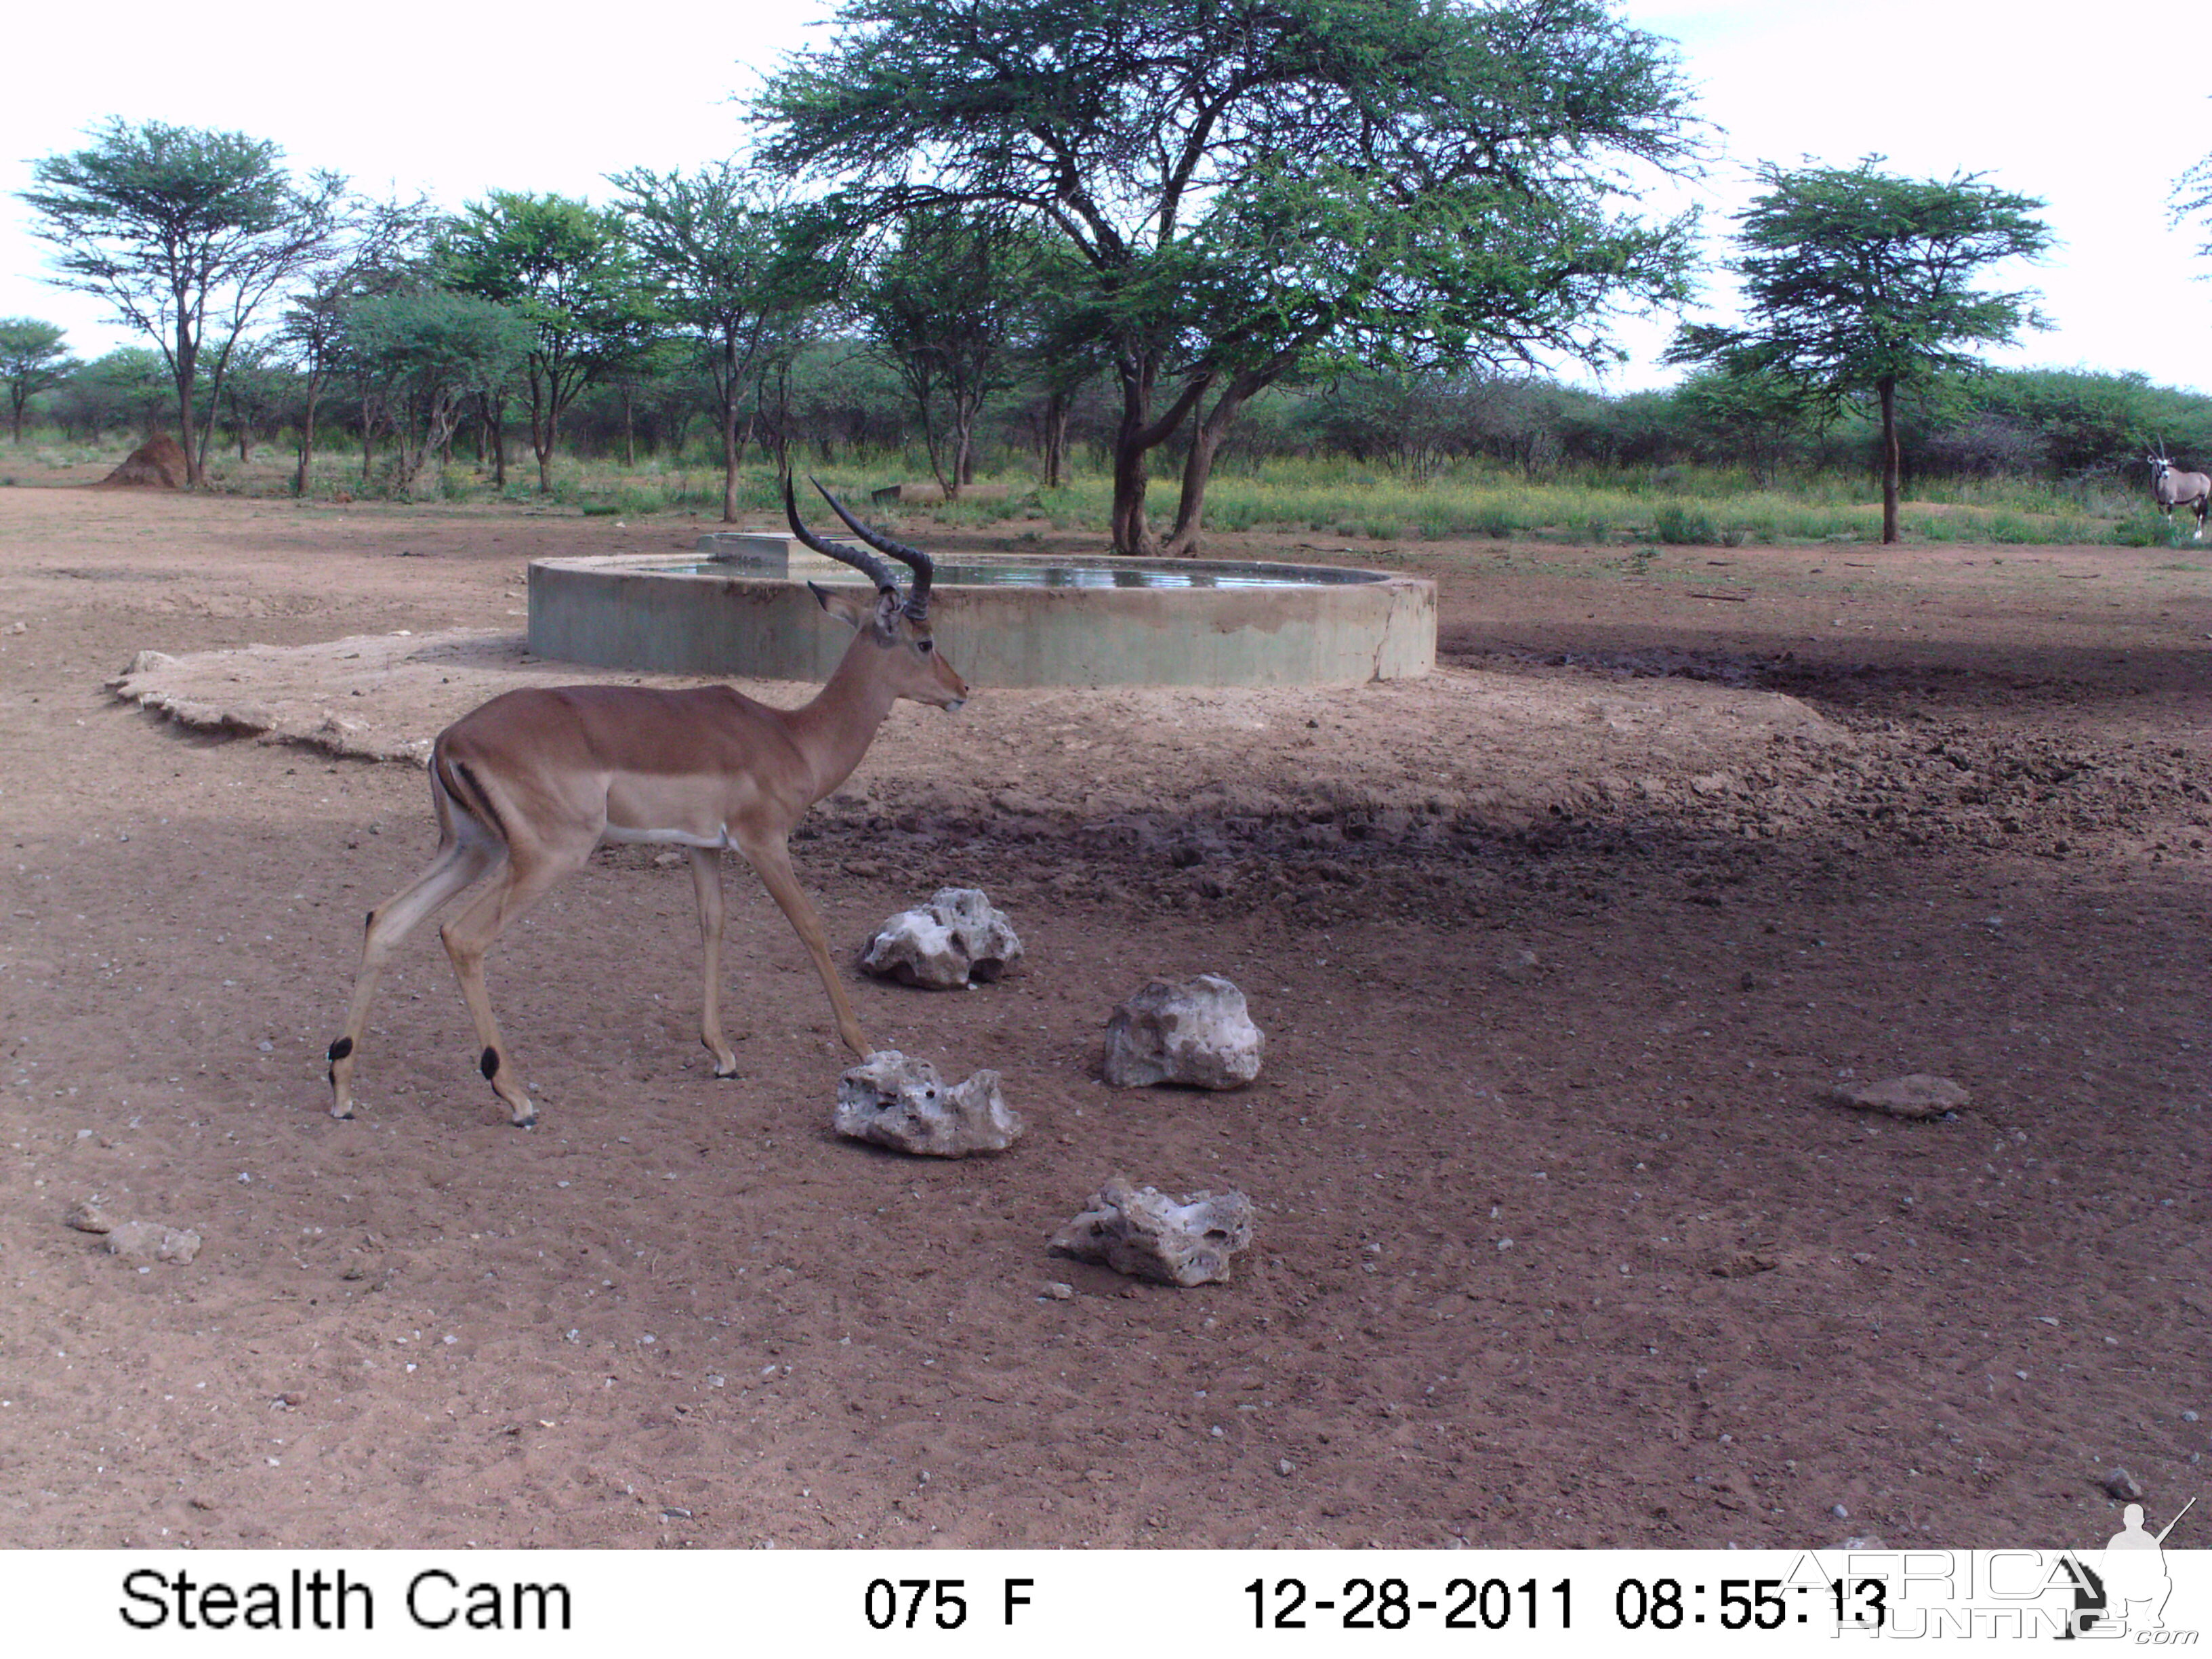
[[[863,1057],[872,1053],[830,960],[821,916],[792,874],[785,841],[805,810],[860,763],[896,699],[951,710],[967,701],[969,688],[929,637],[929,555],[876,535],[825,489],[823,500],[863,542],[905,562],[914,582],[900,597],[883,560],[816,540],[799,520],[799,500],[785,482],[783,507],[799,540],[876,584],[874,597],[860,597],[807,582],[821,608],[845,622],[854,639],[805,708],[768,708],[730,686],[553,686],[493,697],[438,734],[429,759],[438,854],[369,911],[354,1004],[345,1033],[330,1044],[332,1117],[354,1115],[354,1066],[376,975],[392,951],[431,911],[491,876],[440,938],[476,1022],[484,1082],[518,1126],[538,1119],[491,1015],[484,953],[553,883],[582,869],[602,841],[653,841],[690,854],[706,947],[699,1042],[714,1055],[717,1077],[737,1075],[737,1055],[721,1035],[723,847],[745,856],[799,931],[845,1046]]]

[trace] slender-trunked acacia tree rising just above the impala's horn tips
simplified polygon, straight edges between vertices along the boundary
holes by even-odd
[[[810,217],[732,161],[692,175],[635,168],[608,181],[659,283],[661,314],[703,347],[721,431],[721,520],[734,524],[754,369],[796,312],[832,296],[834,268],[816,257]]]

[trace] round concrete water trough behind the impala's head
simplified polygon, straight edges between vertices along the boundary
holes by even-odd
[[[781,540],[781,538],[779,538]],[[1436,584],[1305,564],[940,555],[929,622],[973,686],[1332,686],[1436,666]],[[827,679],[852,635],[799,575],[622,555],[531,564],[531,650],[599,668]],[[1121,586],[1146,580],[1181,586]],[[1225,582],[1232,586],[1194,586]]]

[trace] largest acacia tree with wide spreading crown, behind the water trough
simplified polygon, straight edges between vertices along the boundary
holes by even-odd
[[[1113,358],[1113,546],[1190,422],[1170,551],[1261,389],[1327,361],[1604,354],[1679,296],[1688,221],[1617,215],[1686,166],[1670,49],[1606,0],[845,0],[752,111],[761,159],[867,226],[984,204],[1062,239]],[[1206,403],[1212,398],[1210,403]]]

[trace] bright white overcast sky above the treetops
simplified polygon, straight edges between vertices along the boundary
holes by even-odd
[[[2037,7],[2013,13],[2033,27],[1993,29],[2006,9],[1991,0],[1626,0],[1626,11],[1681,42],[1723,133],[1725,159],[1683,197],[1703,206],[1717,252],[1761,159],[1849,166],[1880,150],[1913,177],[1986,173],[2046,199],[2059,237],[2042,265],[1993,274],[2042,290],[2055,323],[2000,363],[2139,369],[2212,392],[2212,281],[2192,281],[2212,274],[2212,259],[2192,254],[2212,232],[2166,223],[2174,177],[2212,153],[2212,100],[2194,71],[2159,66],[2143,44],[2150,20]],[[49,250],[15,199],[33,159],[80,148],[108,115],[268,137],[296,168],[336,168],[374,192],[425,190],[449,208],[493,188],[604,199],[606,173],[692,168],[739,148],[730,95],[827,13],[821,0],[659,0],[635,13],[557,9],[551,22],[451,0],[24,9],[0,97],[0,316],[62,323],[80,356],[128,338],[95,301],[40,281]],[[1719,279],[1712,294],[1725,316]],[[1635,361],[1615,389],[1672,378],[1655,367],[1672,325],[1621,332]]]

